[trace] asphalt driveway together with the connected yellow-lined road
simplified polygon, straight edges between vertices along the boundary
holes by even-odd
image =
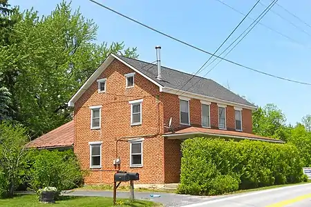
[[[113,197],[111,191],[75,190],[63,195]],[[160,197],[151,197],[160,195]],[[129,198],[129,192],[117,192],[117,198]],[[185,207],[311,207],[311,184],[301,184],[251,193],[200,197],[174,193],[135,192],[135,199],[149,199],[163,206]]]

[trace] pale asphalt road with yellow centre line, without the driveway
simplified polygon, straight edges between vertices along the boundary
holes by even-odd
[[[272,188],[252,193],[229,195],[226,197],[209,199],[187,207],[310,207],[311,184],[301,184],[283,188]],[[185,206],[185,207],[186,207]]]

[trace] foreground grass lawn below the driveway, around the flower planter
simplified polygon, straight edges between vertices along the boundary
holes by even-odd
[[[131,206],[131,207],[142,207],[142,206],[161,206],[151,201],[135,200],[130,202],[129,199],[117,199],[117,206]],[[0,206],[6,207],[65,207],[65,206],[84,206],[84,207],[95,207],[95,206],[113,206],[113,199],[108,197],[71,197],[63,196],[62,200],[56,201],[56,204],[41,204],[38,201],[37,195],[17,195],[12,199],[0,199]]]

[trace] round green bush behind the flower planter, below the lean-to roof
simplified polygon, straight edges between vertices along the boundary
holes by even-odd
[[[40,150],[30,167],[29,184],[36,191],[50,186],[68,190],[81,183],[82,171],[73,150]]]

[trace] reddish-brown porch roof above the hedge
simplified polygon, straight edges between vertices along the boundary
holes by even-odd
[[[182,136],[182,135],[194,135],[194,134],[203,134],[203,135],[212,135],[212,136],[219,136],[219,137],[232,137],[232,138],[241,138],[241,139],[255,139],[261,141],[272,141],[272,142],[279,142],[284,143],[284,141],[279,139],[272,139],[270,137],[261,137],[258,135],[253,135],[246,132],[237,132],[237,131],[229,131],[229,130],[218,130],[218,129],[211,129],[211,128],[200,128],[190,126],[188,128],[184,128],[181,130],[177,130],[176,132],[166,133],[164,137],[174,137],[174,136]]]

